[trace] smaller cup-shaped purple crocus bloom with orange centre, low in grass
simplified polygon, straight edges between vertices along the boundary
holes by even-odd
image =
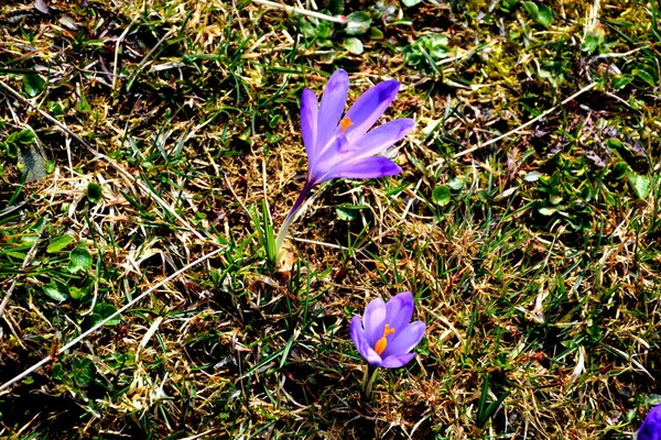
[[[349,332],[354,345],[371,367],[399,369],[413,359],[411,350],[422,340],[426,326],[422,321],[411,322],[413,295],[402,292],[388,302],[372,299],[362,319],[351,319]]]

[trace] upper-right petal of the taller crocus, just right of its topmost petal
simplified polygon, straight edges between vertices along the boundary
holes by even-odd
[[[379,82],[356,100],[346,114],[346,118],[349,118],[354,123],[346,131],[349,142],[360,139],[381,118],[381,114],[394,99],[399,86],[400,84],[395,79]]]

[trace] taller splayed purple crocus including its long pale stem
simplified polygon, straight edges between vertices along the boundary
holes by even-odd
[[[334,178],[375,178],[401,173],[388,157],[377,156],[402,140],[413,128],[412,119],[395,119],[370,130],[394,99],[400,84],[391,79],[379,82],[344,114],[349,91],[349,76],[336,70],[317,102],[308,89],[301,97],[301,131],[307,153],[307,177],[301,195],[282,223],[275,240],[280,252],[284,235],[310,191]]]

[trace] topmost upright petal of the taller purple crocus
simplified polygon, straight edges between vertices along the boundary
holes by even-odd
[[[335,70],[322,96],[319,106],[317,145],[323,147],[328,143],[344,113],[349,92],[349,76],[343,69]]]

